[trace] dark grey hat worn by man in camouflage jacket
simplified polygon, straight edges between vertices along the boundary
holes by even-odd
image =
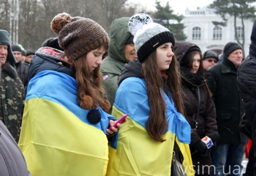
[[[6,61],[8,61],[9,63],[15,63],[16,59],[11,50],[9,33],[6,30],[0,29],[0,44],[8,46],[8,54]]]

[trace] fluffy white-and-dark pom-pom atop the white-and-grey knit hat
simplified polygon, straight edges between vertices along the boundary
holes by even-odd
[[[141,29],[144,25],[153,22],[152,18],[147,14],[136,14],[130,18],[128,22],[128,28],[133,36]]]

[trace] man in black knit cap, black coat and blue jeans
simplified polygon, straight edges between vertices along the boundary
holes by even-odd
[[[222,62],[209,69],[211,78],[207,79],[215,102],[220,135],[212,158],[215,172],[219,176],[224,176],[226,170],[240,176],[242,169],[241,162],[247,143],[247,137],[238,130],[244,114],[244,104],[237,88],[237,67],[242,59],[242,47],[234,42],[227,43],[223,50]],[[226,165],[228,154],[229,163],[232,163],[230,166],[229,163]]]

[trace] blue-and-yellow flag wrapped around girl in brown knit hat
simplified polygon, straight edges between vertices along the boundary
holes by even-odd
[[[49,59],[37,53],[30,65],[33,69],[40,61],[52,68]],[[101,121],[91,124],[87,120],[90,110],[79,106],[76,94],[75,79],[65,73],[43,70],[30,80],[19,147],[33,176],[105,176],[106,129],[109,119],[115,118],[99,107]]]

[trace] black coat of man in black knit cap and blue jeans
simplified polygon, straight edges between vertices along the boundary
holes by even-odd
[[[246,144],[247,137],[238,131],[244,103],[237,88],[237,68],[227,58],[213,66],[207,79],[214,98],[220,139],[217,144]]]

